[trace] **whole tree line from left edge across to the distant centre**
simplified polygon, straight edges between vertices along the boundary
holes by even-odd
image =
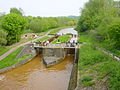
[[[52,28],[74,26],[77,23],[77,19],[68,17],[33,17],[24,16],[23,13],[21,8],[11,8],[9,14],[0,13],[0,45],[19,42],[25,30],[40,33]]]

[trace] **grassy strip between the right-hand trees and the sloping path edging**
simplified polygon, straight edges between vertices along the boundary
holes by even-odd
[[[86,43],[91,43],[91,44],[95,44],[101,48],[105,48],[106,50],[120,56],[120,50],[115,49],[113,46],[113,42],[109,42],[108,40],[98,40],[98,36],[97,38],[95,38],[95,36],[93,35],[94,30],[90,31],[90,32],[82,32],[80,33],[80,37],[79,37],[79,41],[80,42],[86,42]],[[99,37],[101,39],[101,36]]]

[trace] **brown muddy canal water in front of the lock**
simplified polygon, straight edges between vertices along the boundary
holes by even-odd
[[[38,55],[29,63],[0,74],[0,90],[67,90],[73,56],[46,68]]]

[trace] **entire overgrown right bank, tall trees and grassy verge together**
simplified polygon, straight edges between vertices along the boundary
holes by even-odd
[[[80,42],[80,89],[119,90],[120,62],[113,60],[97,45],[120,55],[120,1],[89,0],[77,25]]]

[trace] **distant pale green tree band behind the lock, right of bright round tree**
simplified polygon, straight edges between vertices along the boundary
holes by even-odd
[[[63,27],[63,26],[74,26],[76,25],[77,19],[67,17],[26,17],[29,20],[29,29],[33,32],[44,32],[48,29]]]

